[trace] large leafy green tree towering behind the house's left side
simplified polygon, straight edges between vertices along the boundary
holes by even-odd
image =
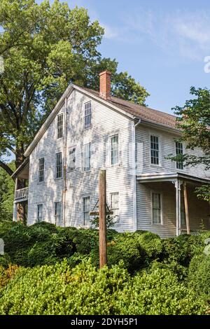
[[[117,73],[116,60],[102,58],[97,46],[104,29],[90,22],[85,8],[70,9],[55,0],[1,0],[0,55],[0,167],[8,150],[15,167],[24,160],[26,146],[71,82],[98,87],[102,69],[113,73],[112,92],[144,104],[148,92],[131,76]],[[24,183],[18,182],[18,188]]]

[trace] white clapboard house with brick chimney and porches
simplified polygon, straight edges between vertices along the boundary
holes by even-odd
[[[169,237],[201,225],[209,230],[209,204],[195,188],[209,183],[210,173],[166,158],[185,152],[176,117],[111,97],[108,71],[99,79],[99,92],[69,85],[27,148],[13,174],[28,179],[28,188],[15,190],[14,220],[22,203],[29,225],[88,227],[103,168],[119,232]]]

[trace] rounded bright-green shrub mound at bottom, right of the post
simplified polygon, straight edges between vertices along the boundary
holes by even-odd
[[[172,272],[155,269],[141,273],[118,292],[116,314],[191,315],[204,314],[206,305]]]

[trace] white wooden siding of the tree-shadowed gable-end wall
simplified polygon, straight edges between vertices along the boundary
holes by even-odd
[[[92,124],[83,127],[83,104],[91,100],[74,90],[67,101],[67,148],[76,146],[76,169],[66,172],[66,226],[83,225],[83,197],[91,198],[91,207],[98,200],[99,168],[106,168],[107,203],[109,193],[120,193],[119,231],[134,230],[133,176],[128,169],[129,144],[132,142],[132,122],[125,116],[92,100]],[[59,113],[65,111],[64,104]],[[64,116],[65,118],[65,116]],[[54,202],[64,203],[64,179],[55,180],[55,153],[62,152],[64,159],[64,137],[57,139],[56,118],[48,127],[41,141],[30,155],[28,223],[36,220],[36,204],[43,203],[43,218],[54,223]],[[120,164],[114,167],[109,162],[109,137],[119,135]],[[91,142],[91,170],[83,172],[83,145]],[[45,158],[45,180],[37,182],[38,158]],[[64,206],[64,204],[62,204]]]

